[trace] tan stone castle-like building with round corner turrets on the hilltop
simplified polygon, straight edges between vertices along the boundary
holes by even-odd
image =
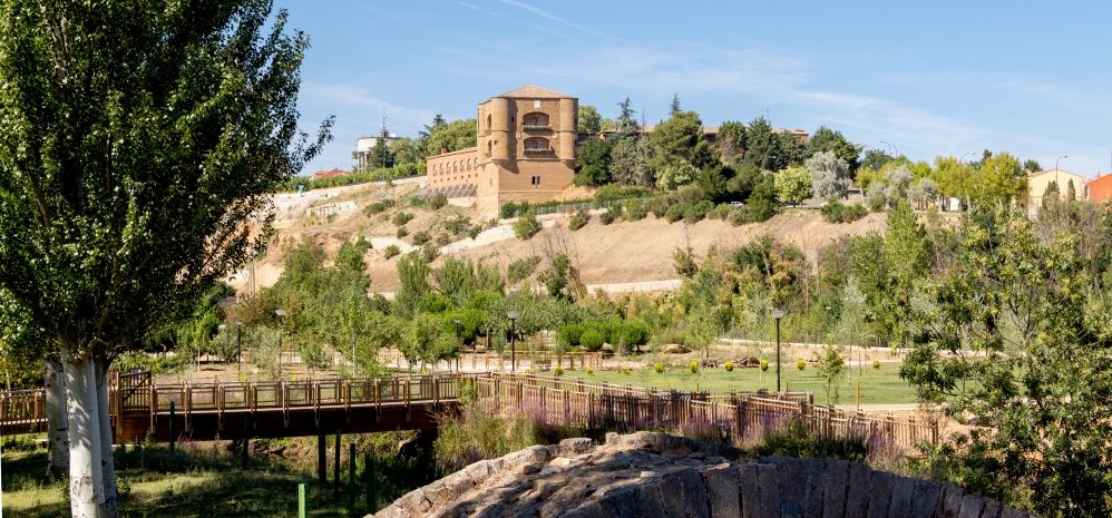
[[[428,188],[474,196],[481,214],[553,199],[575,176],[578,99],[526,85],[479,104],[477,146],[429,157]]]

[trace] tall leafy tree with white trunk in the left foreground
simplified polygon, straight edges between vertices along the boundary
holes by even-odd
[[[325,139],[297,138],[308,40],[285,22],[269,2],[0,4],[0,287],[64,360],[74,516],[119,514],[111,360],[253,255],[269,234],[246,222]]]

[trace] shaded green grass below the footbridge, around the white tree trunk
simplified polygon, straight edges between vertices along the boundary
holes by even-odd
[[[345,441],[349,437],[355,436],[347,436]],[[315,439],[260,442],[267,449],[285,447],[304,450],[308,443],[315,443]],[[391,450],[396,448],[393,441],[389,442],[388,448]],[[323,486],[318,483],[314,468],[305,462],[299,466],[279,457],[260,455],[252,458],[247,469],[241,469],[236,457],[215,444],[181,444],[174,455],[170,455],[165,446],[150,444],[142,452],[136,452],[129,447],[127,453],[117,453],[116,472],[123,515],[147,518],[292,517],[297,512],[299,483],[305,483],[311,517],[361,517],[369,512],[364,507],[362,493],[357,496],[353,512],[349,512],[347,462],[341,470],[344,483],[340,497],[333,500],[331,482]],[[363,448],[360,448],[360,451],[362,450]],[[330,446],[330,459],[331,456]],[[6,450],[2,462],[3,516],[14,518],[69,516],[65,483],[48,479],[43,473],[45,452]],[[378,473],[380,507],[404,491],[429,481],[425,476],[414,476],[413,466],[399,466],[396,459],[380,457],[378,466],[381,470]],[[406,469],[410,471],[403,471]],[[357,477],[360,476],[360,471],[361,466],[360,470],[357,470]],[[331,477],[330,468],[329,478]]]

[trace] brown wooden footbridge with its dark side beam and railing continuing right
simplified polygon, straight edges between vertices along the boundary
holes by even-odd
[[[466,388],[466,389],[465,389]],[[355,380],[155,384],[149,373],[109,385],[115,442],[315,436],[437,427],[461,391],[549,424],[672,429],[744,441],[788,422],[823,437],[938,440],[937,422],[815,407],[810,393],[690,393],[528,374],[394,375]],[[0,393],[0,434],[45,431],[42,390]]]

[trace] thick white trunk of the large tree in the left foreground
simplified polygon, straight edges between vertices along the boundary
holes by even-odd
[[[105,518],[97,377],[89,359],[62,360],[69,410],[69,500],[74,518]]]

